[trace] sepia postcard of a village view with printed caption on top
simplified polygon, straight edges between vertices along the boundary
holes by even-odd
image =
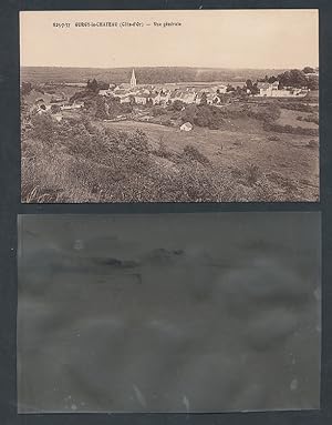
[[[317,202],[315,9],[20,12],[21,202]]]

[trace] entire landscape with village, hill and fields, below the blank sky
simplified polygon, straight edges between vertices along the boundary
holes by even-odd
[[[319,69],[21,69],[22,201],[319,200]]]

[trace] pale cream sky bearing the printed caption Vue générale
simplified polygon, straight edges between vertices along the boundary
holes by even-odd
[[[117,27],[75,27],[76,22]],[[126,26],[133,22],[141,26]],[[68,23],[70,28],[54,23]],[[23,11],[20,44],[22,67],[318,67],[319,12]]]

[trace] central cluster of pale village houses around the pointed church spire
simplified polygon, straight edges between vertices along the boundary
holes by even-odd
[[[172,104],[178,100],[187,104],[199,104],[205,97],[208,104],[218,104],[220,103],[220,97],[218,94],[226,93],[227,91],[227,85],[224,84],[203,89],[181,89],[176,84],[173,85],[173,88],[166,85],[163,87],[160,84],[138,85],[135,70],[133,70],[129,83],[123,83],[117,87],[110,84],[108,89],[100,90],[98,94],[103,97],[117,98],[121,103]]]

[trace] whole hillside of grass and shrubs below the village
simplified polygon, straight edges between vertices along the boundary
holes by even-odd
[[[22,202],[317,201],[318,125],[274,109],[277,132],[266,105],[241,103],[218,129],[189,132],[129,117],[35,115],[22,132]]]

